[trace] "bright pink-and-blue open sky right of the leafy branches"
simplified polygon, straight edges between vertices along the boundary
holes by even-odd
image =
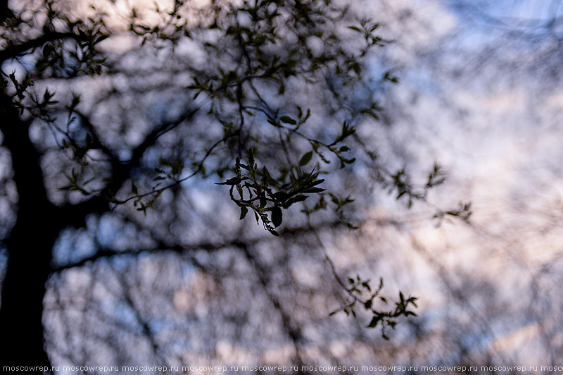
[[[408,262],[393,274],[420,288],[410,289],[420,319],[407,337],[416,340],[398,344],[396,358],[477,373],[516,364],[532,367],[523,374],[559,371],[560,1],[389,9],[404,30],[386,55],[401,78],[395,128],[417,123],[403,147],[434,153],[450,172],[442,197],[461,194],[474,211],[470,226],[450,226],[438,209],[437,230],[415,215],[388,230],[401,245],[386,264]]]

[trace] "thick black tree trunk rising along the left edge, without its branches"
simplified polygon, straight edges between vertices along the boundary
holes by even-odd
[[[5,92],[0,98],[0,130],[12,157],[18,190],[17,222],[6,240],[8,267],[2,285],[0,332],[2,365],[49,365],[42,325],[51,250],[61,229],[58,209],[46,196],[39,153]]]

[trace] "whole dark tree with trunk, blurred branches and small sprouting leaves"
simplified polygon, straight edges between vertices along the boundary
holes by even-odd
[[[371,146],[397,82],[371,69],[374,20],[316,0],[3,14],[5,361],[186,364],[224,336],[301,365],[300,305],[384,338],[415,315],[348,280],[320,237],[358,228],[374,184],[410,207],[443,183],[434,164],[411,184]]]

